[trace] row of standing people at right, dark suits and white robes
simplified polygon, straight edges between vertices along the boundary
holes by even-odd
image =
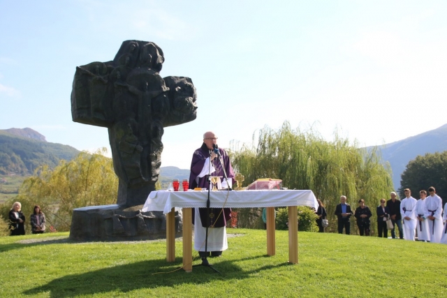
[[[428,188],[428,196],[425,190],[420,191],[419,200],[411,196],[409,188],[404,189],[404,194],[405,198],[402,201],[397,200],[395,192],[390,193],[390,200],[380,200],[380,205],[376,209],[378,236],[388,238],[390,230],[391,237],[395,239],[397,226],[400,239],[414,241],[417,236],[418,241],[447,244],[447,212],[444,212],[443,216],[442,199],[436,194],[434,187]],[[358,203],[360,206],[353,212],[351,206],[346,203],[346,196],[340,197],[340,204],[335,207],[339,234],[343,234],[343,230],[346,234],[350,234],[350,218],[354,216],[360,236],[369,236],[369,218],[372,213],[369,207],[365,206],[365,200],[361,199]],[[323,232],[321,218],[325,217],[325,210],[320,200],[318,204],[316,223],[320,232]],[[447,203],[444,211],[446,209]]]

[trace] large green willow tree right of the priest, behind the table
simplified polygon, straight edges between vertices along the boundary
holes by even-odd
[[[353,209],[360,198],[365,199],[375,213],[380,198],[387,198],[393,190],[390,167],[381,163],[378,151],[360,149],[337,134],[328,142],[312,129],[293,130],[286,121],[277,131],[268,127],[259,131],[256,147],[254,140],[255,135],[252,144],[231,144],[235,172],[243,174],[247,184],[258,178],[276,178],[289,189],[312,190],[328,211],[331,224],[327,230],[337,230],[334,212],[340,195],[347,196]],[[240,221],[249,226],[257,210],[241,212]]]

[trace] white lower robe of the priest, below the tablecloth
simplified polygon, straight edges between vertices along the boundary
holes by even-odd
[[[195,208],[194,210],[194,249],[196,251],[205,251],[206,228],[202,226],[198,208]],[[221,216],[223,216],[223,213]],[[226,228],[208,228],[207,251],[226,251],[227,249],[228,242],[226,241]]]

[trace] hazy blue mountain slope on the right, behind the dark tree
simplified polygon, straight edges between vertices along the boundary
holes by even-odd
[[[393,169],[395,190],[400,188],[400,177],[409,161],[416,156],[447,150],[447,124],[433,131],[407,137],[404,140],[384,144],[379,147],[383,161],[388,161]]]

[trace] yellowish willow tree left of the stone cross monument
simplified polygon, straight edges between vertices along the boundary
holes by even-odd
[[[116,203],[118,179],[112,159],[104,153],[105,149],[81,152],[72,161],[60,161],[54,170],[38,167],[13,200],[22,203],[27,219],[38,204],[57,230],[70,230],[73,209]]]

